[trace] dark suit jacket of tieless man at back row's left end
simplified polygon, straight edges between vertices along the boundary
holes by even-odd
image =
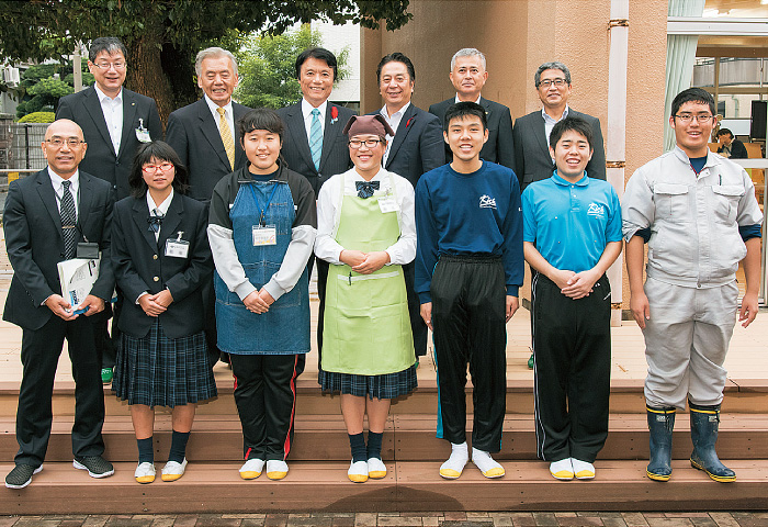
[[[88,150],[80,162],[80,170],[111,183],[118,200],[131,193],[128,175],[136,148],[140,145],[136,137],[139,120],[149,131],[153,141],[162,138],[162,125],[155,100],[125,88],[123,88],[123,133],[117,154],[110,138],[95,88],[90,87],[78,93],[63,97],[56,110],[56,119],[70,119],[82,128]]]

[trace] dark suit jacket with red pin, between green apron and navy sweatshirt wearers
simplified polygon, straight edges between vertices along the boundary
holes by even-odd
[[[411,103],[397,126],[384,168],[416,188],[422,173],[445,165],[444,143],[440,120]]]

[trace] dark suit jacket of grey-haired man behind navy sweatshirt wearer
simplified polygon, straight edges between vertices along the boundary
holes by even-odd
[[[455,97],[445,99],[429,106],[429,113],[438,116],[443,126],[445,110],[456,102]],[[515,170],[515,139],[512,138],[512,114],[509,109],[498,102],[489,101],[481,97],[481,106],[485,108],[485,116],[488,120],[488,141],[483,145],[481,158],[490,162],[498,162]],[[445,143],[445,162],[453,161],[451,147]],[[516,172],[517,173],[517,172]]]

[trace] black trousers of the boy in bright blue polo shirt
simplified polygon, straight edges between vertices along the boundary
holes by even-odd
[[[611,288],[573,300],[542,273],[531,288],[537,455],[594,462],[608,437]]]

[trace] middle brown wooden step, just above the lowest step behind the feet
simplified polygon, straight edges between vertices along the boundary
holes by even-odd
[[[467,430],[472,429],[472,416]],[[419,414],[391,415],[384,434],[383,459],[387,461],[441,461],[449,455],[445,441],[434,437],[434,416]],[[56,417],[46,455],[48,461],[71,460],[70,430],[72,419]],[[155,426],[156,459],[165,460],[170,449],[171,421],[159,414]],[[504,423],[502,460],[535,459],[533,417],[509,414]],[[688,459],[691,452],[688,417],[680,415],[673,441],[675,459]],[[134,461],[136,440],[127,416],[110,416],[104,423],[105,456],[111,461]],[[14,422],[0,417],[0,460],[13,459],[18,450]],[[718,440],[718,451],[729,459],[768,459],[768,415],[724,415]],[[193,460],[238,461],[242,459],[242,431],[236,415],[200,415],[188,445]],[[304,416],[296,418],[296,433],[290,459],[292,461],[346,461],[349,440],[340,415]],[[643,460],[648,456],[648,435],[644,415],[613,414],[609,435],[599,458],[603,460]]]

